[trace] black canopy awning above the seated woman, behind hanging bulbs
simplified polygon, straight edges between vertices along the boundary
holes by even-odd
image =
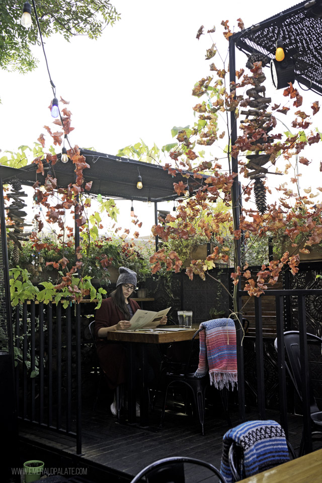
[[[94,195],[101,194],[111,198],[137,201],[148,201],[148,198],[151,202],[168,201],[178,198],[178,194],[174,190],[174,183],[182,181],[187,184],[188,181],[184,177],[184,172],[169,175],[168,171],[161,166],[88,149],[81,149],[81,154],[86,157],[86,162],[90,165],[90,169],[85,169],[83,175],[85,183],[93,182],[89,193]],[[60,154],[58,162],[52,168],[49,168],[46,163],[44,166],[45,176],[36,173],[37,165],[35,164],[19,170],[0,166],[0,177],[3,178],[3,181],[17,178],[22,184],[32,186],[37,180],[43,184],[47,176],[46,171],[50,169],[53,177],[57,179],[57,188],[64,188],[75,182],[74,164],[71,160],[68,160],[68,163],[62,163]],[[140,190],[136,187],[139,175],[143,185]],[[189,179],[190,196],[199,189],[206,178],[207,176],[202,179]]]

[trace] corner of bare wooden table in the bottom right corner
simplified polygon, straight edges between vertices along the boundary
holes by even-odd
[[[239,483],[322,483],[322,449],[249,476]]]

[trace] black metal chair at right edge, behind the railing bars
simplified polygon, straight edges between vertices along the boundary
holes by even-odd
[[[306,334],[308,344],[318,344],[319,347],[322,344],[322,339],[313,334]],[[290,378],[294,384],[295,390],[302,401],[301,391],[301,363],[300,363],[300,340],[298,331],[284,332],[284,345],[287,353],[289,365],[286,365]],[[274,342],[275,349],[277,350],[277,339]],[[310,397],[310,416],[312,423],[312,439],[322,439],[322,411],[317,407],[315,397],[313,395],[312,384],[309,379],[309,397]],[[299,456],[304,451],[304,435],[302,436]]]

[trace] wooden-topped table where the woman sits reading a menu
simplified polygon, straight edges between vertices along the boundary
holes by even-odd
[[[167,326],[170,327],[170,326]],[[148,386],[147,386],[147,355],[146,344],[169,344],[171,342],[190,341],[199,326],[192,329],[182,329],[181,331],[162,331],[153,329],[150,331],[113,331],[107,333],[110,341],[125,342],[129,350],[129,369],[128,369],[128,410],[129,423],[135,423],[135,345],[139,352],[139,389],[140,389],[140,426],[148,427]]]

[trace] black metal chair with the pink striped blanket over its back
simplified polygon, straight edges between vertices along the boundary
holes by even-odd
[[[200,331],[204,330],[198,329],[192,337],[190,351],[187,356],[187,360],[184,364],[179,364],[179,366],[169,366],[163,374],[163,379],[166,385],[165,396],[163,400],[162,414],[160,419],[160,426],[163,426],[168,392],[171,387],[174,386],[186,386],[190,389],[190,394],[193,396],[194,408],[198,411],[198,417],[201,424],[201,432],[204,434],[204,421],[205,421],[205,393],[206,389],[210,386],[209,375],[206,374],[204,377],[195,377],[195,371],[198,367],[199,361],[199,339],[197,335]],[[195,356],[195,357],[194,357]],[[198,356],[198,357],[196,357]],[[194,367],[195,365],[195,367]],[[220,397],[222,406],[225,412],[228,425],[230,425],[230,419],[227,410],[227,400],[225,400],[225,391],[220,390]]]

